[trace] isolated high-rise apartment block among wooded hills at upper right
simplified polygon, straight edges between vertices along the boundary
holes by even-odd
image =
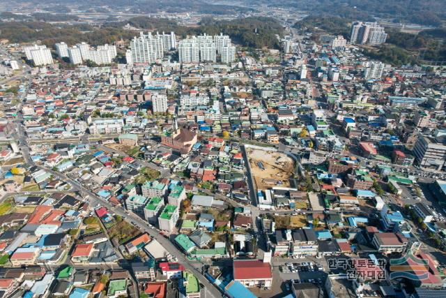
[[[387,33],[376,22],[353,22],[350,43],[357,45],[379,45],[385,43]]]

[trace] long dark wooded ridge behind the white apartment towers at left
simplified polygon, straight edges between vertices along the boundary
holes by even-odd
[[[175,31],[180,37],[200,33],[213,35],[222,32],[231,36],[233,42],[239,45],[256,48],[278,47],[279,42],[275,35],[283,35],[284,32],[283,27],[269,17],[247,17],[231,21],[206,19],[198,27],[183,27],[172,20],[149,17],[134,17],[125,22],[108,22],[100,28],[88,25],[55,25],[47,22],[0,22],[0,30],[1,37],[13,43],[32,43],[41,40],[49,47],[60,41],[65,41],[68,45],[82,41],[91,45],[100,45],[113,43],[121,38],[128,40],[137,35],[137,31],[122,29],[126,23],[145,31]]]

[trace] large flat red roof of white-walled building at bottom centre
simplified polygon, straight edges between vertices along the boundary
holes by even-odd
[[[234,260],[233,276],[236,281],[272,278],[271,265],[261,260]]]

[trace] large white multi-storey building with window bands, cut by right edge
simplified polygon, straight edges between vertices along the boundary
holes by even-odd
[[[413,155],[420,167],[442,170],[446,161],[446,145],[431,137],[419,135],[413,147]]]

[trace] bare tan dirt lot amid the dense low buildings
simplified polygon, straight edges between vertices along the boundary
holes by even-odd
[[[286,154],[268,149],[246,149],[252,177],[258,190],[274,186],[289,187],[295,163]]]

